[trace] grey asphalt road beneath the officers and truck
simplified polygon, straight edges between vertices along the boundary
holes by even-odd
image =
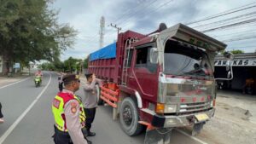
[[[43,84],[35,88],[33,79],[1,89],[0,101],[3,105],[5,122],[0,124],[0,143],[3,144],[53,144],[54,119],[51,101],[58,91],[57,75],[44,72]],[[83,83],[81,84],[83,85]],[[82,90],[77,95],[83,96]],[[98,107],[92,125],[95,137],[89,139],[94,144],[143,144],[145,134],[130,137],[119,127],[119,120],[112,120],[112,109]],[[172,131],[171,144],[201,144],[195,137]]]

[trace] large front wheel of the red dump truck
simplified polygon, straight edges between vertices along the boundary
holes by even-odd
[[[124,130],[127,135],[139,135],[143,130],[143,125],[138,123],[139,116],[137,105],[131,97],[126,97],[125,100],[122,101],[119,120],[122,130]]]

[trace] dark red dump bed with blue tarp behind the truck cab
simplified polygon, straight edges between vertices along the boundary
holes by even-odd
[[[145,37],[137,32],[127,31],[118,35],[118,41],[90,54],[88,71],[98,78],[119,84],[125,55],[125,41],[129,38]]]

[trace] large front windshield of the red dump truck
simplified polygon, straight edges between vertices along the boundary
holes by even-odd
[[[212,77],[207,54],[201,49],[169,40],[166,43],[164,60],[166,74]]]

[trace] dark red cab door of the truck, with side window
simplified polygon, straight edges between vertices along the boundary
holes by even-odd
[[[136,47],[132,59],[132,67],[128,71],[128,84],[137,89],[145,98],[155,98],[158,87],[157,64],[150,63],[149,51],[155,47],[154,43],[147,43]]]

